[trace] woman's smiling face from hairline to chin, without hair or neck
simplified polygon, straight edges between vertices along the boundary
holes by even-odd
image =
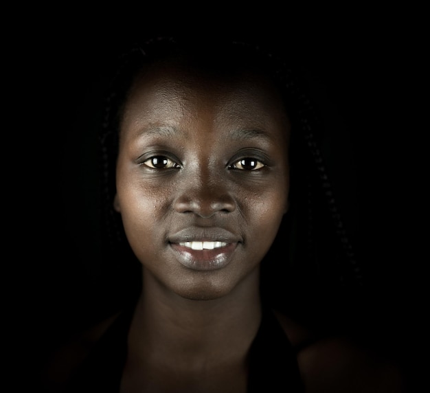
[[[137,79],[115,209],[144,274],[189,299],[221,297],[258,274],[287,210],[289,128],[260,77],[163,67]]]

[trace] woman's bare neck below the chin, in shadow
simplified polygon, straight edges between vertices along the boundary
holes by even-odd
[[[246,355],[261,319],[259,273],[212,300],[190,300],[144,272],[129,340],[137,357],[226,359]]]

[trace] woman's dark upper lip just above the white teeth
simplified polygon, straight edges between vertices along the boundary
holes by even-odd
[[[227,229],[219,227],[188,227],[168,236],[170,243],[184,243],[192,241],[218,241],[224,243],[238,243],[240,236],[232,234]]]

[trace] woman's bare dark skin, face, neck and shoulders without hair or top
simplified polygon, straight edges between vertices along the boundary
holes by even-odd
[[[143,286],[122,392],[247,391],[260,261],[288,211],[290,131],[278,92],[260,76],[232,82],[161,67],[133,85],[114,205]],[[277,315],[293,346],[315,335]],[[85,351],[77,353],[78,362]],[[401,391],[395,366],[342,337],[316,341],[297,360],[306,392]]]

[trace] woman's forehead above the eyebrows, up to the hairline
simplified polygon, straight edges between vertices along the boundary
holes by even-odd
[[[249,69],[215,69],[183,63],[146,67],[128,93],[123,122],[150,117],[193,116],[216,112],[218,120],[285,120],[282,98],[264,74]]]

